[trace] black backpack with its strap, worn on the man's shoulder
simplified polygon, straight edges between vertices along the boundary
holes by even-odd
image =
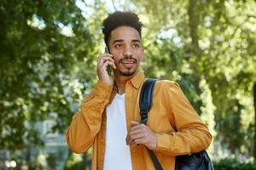
[[[156,81],[157,79],[149,78],[143,83],[139,100],[141,123],[143,124],[147,124],[148,122],[148,111],[150,111],[152,106],[154,84]],[[154,163],[155,169],[162,170],[163,167],[161,167],[154,152],[148,149],[148,153]],[[202,150],[190,156],[176,156],[175,170],[214,170],[214,168],[212,167],[212,161],[207,151]]]

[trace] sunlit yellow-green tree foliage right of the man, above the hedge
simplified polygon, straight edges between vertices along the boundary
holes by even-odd
[[[179,82],[221,147],[252,155],[255,1],[133,2],[148,17],[147,74]]]

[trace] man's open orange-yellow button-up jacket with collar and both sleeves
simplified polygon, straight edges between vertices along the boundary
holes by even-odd
[[[139,93],[144,81],[143,72],[138,72],[126,82],[127,129],[130,129],[131,121],[140,122]],[[67,144],[74,152],[83,153],[93,145],[92,169],[103,168],[106,105],[113,100],[116,93],[113,86],[102,81],[97,82],[96,88],[84,99],[81,111],[73,116],[67,130]],[[164,170],[174,169],[175,156],[207,149],[212,135],[176,82],[156,82],[153,102],[148,113],[147,126],[156,134],[157,147],[154,154]],[[142,144],[131,147],[131,161],[133,170],[154,169],[148,150]]]

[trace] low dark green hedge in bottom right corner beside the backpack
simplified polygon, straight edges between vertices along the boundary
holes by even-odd
[[[220,161],[214,161],[215,170],[253,170],[256,169],[256,163],[240,162],[237,159],[225,158]]]

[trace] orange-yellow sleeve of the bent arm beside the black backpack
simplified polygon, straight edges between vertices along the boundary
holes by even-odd
[[[206,150],[212,135],[181,88],[176,82],[167,82],[163,83],[162,89],[170,123],[176,132],[156,133],[157,147],[154,151],[178,156]]]

